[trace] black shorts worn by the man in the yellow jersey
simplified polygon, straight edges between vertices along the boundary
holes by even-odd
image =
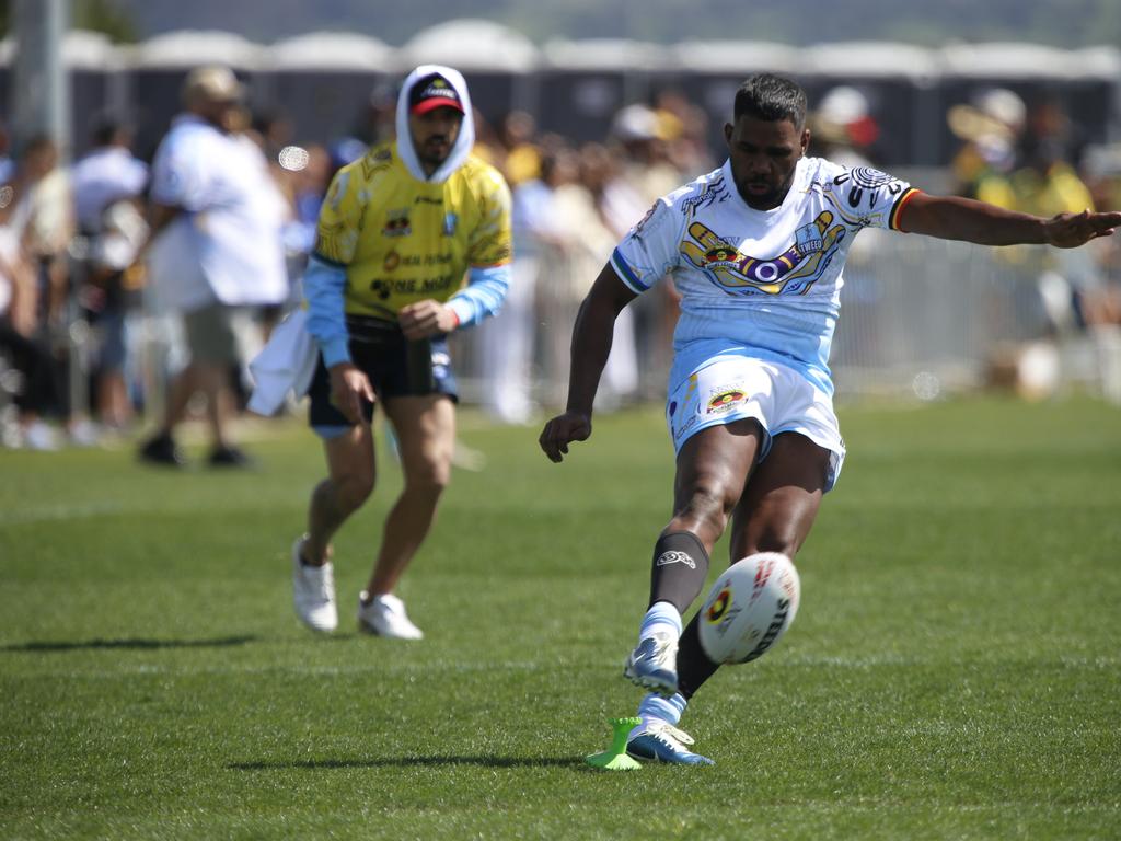
[[[446,336],[410,342],[396,324],[373,318],[348,317],[346,327],[351,336],[351,360],[370,378],[379,400],[446,395],[458,401]],[[308,423],[319,435],[333,437],[353,426],[331,403],[331,377],[322,354],[307,396],[311,398]],[[363,400],[362,412],[367,420],[373,419],[372,403]]]

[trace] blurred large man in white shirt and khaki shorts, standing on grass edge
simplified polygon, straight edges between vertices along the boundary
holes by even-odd
[[[242,94],[226,67],[192,71],[183,87],[186,110],[152,165],[152,278],[166,305],[182,314],[191,353],[172,383],[159,431],[139,452],[156,464],[184,463],[174,432],[197,391],[207,401],[210,463],[249,462],[229,428],[229,372],[242,361],[238,334],[250,307],[288,297],[281,241],[287,205],[260,148],[231,132]]]

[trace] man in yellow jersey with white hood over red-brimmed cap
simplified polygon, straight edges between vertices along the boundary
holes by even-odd
[[[332,182],[305,276],[307,330],[319,348],[311,425],[328,475],[307,534],[293,545],[296,612],[339,625],[331,538],[374,486],[370,423],[380,403],[397,434],[405,487],[386,520],[360,630],[419,639],[395,594],[432,526],[451,473],[455,377],[448,333],[498,312],[509,285],[510,191],[471,156],[463,76],[424,65],[401,85],[397,140],[371,148]]]

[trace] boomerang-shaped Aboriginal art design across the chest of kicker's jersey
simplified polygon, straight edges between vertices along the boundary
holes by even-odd
[[[753,257],[719,237],[703,222],[686,229],[682,253],[724,292],[735,295],[804,295],[822,277],[849,231],[822,211],[795,232],[795,241],[776,257]]]

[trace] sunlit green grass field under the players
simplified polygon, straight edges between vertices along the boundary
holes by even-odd
[[[389,460],[336,542],[324,639],[290,607],[322,470],[296,423],[254,473],[0,452],[0,838],[1121,837],[1121,412],[841,417],[797,621],[683,721],[716,767],[631,774],[582,757],[639,697],[657,410],[599,419],[563,465],[467,414],[489,463],[406,577],[420,644],[353,631]]]

